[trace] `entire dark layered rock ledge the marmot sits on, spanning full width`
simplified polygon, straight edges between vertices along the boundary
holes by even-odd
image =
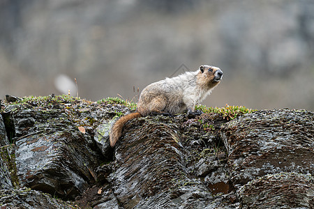
[[[110,148],[112,119],[128,111],[75,98],[4,104],[0,206],[313,208],[313,112],[135,118]]]

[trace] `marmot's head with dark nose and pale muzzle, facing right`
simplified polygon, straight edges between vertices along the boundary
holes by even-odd
[[[219,84],[220,80],[223,79],[223,71],[220,68],[211,66],[211,65],[202,65],[200,66],[199,73],[200,84],[209,86],[210,88]]]

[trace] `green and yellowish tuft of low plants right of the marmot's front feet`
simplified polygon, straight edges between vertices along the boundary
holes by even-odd
[[[223,118],[227,121],[232,121],[234,118],[237,118],[238,116],[241,116],[243,114],[249,114],[253,111],[257,111],[257,109],[248,109],[244,106],[229,106],[228,104],[225,104],[225,107],[206,107],[204,105],[197,105],[195,107],[195,110],[200,110],[206,114],[209,113],[216,113],[216,114],[222,114]]]

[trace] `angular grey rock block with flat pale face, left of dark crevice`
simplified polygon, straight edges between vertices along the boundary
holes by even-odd
[[[21,185],[74,199],[94,181],[98,156],[73,127],[38,133],[16,141],[17,175]],[[85,146],[82,146],[85,144]]]

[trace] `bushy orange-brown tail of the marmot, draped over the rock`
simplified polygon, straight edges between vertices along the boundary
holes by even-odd
[[[117,141],[121,137],[122,129],[124,128],[124,124],[126,124],[126,122],[130,121],[130,119],[140,118],[140,117],[142,117],[142,115],[139,112],[134,112],[134,113],[131,113],[131,114],[128,114],[126,116],[119,118],[118,121],[116,121],[114,125],[112,125],[111,131],[110,131],[110,135],[109,135],[110,146],[113,147],[117,143]]]

